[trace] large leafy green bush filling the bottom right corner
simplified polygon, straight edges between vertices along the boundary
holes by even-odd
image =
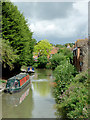
[[[59,88],[57,83],[57,86],[54,88],[54,92],[56,94],[56,102],[58,103],[57,116],[65,115],[67,118],[88,117],[87,104],[89,100],[87,89],[87,74],[87,71],[77,74],[72,79],[72,82],[70,84],[66,84],[66,90],[64,90],[62,94],[60,94],[60,91],[63,90],[63,87]]]

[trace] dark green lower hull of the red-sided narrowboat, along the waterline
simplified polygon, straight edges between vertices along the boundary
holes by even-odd
[[[28,84],[30,84],[30,79],[27,80],[21,87],[15,88],[15,89],[10,89],[10,88],[6,88],[4,90],[5,93],[16,93],[16,92],[20,92],[22,89],[24,89]]]

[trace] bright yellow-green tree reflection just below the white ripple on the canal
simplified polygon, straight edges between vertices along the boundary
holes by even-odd
[[[41,96],[46,96],[50,93],[49,82],[47,81],[33,82],[32,84],[35,92],[39,93]]]

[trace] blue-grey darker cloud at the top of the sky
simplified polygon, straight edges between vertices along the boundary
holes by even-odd
[[[72,9],[72,2],[21,2],[15,3],[26,17],[38,20],[51,20],[67,17]]]

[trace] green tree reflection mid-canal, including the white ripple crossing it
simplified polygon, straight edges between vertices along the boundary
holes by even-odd
[[[50,82],[52,80],[52,71],[38,69],[35,70],[35,74],[32,75],[32,88],[36,94],[40,96],[47,96],[50,94]]]

